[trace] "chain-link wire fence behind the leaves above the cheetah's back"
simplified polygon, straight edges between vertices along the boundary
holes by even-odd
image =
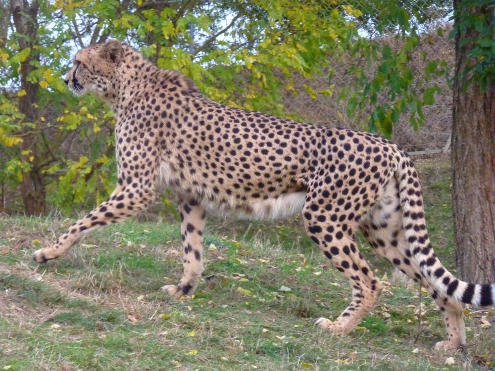
[[[420,28],[419,46],[414,50],[411,59],[407,62],[415,75],[415,85],[427,84],[426,86],[437,84],[442,92],[435,95],[433,105],[424,106],[425,122],[417,131],[409,123],[407,114],[401,115],[400,119],[394,124],[392,139],[405,150],[412,151],[441,151],[448,147],[451,133],[451,107],[452,107],[452,89],[448,84],[447,76],[452,76],[455,63],[455,45],[454,41],[449,39],[451,25],[446,21],[448,6],[431,7],[431,2],[414,1],[415,6],[430,13],[428,22],[422,22]],[[356,8],[359,3],[353,2]],[[362,4],[365,6],[365,4]],[[366,4],[369,6],[369,3]],[[376,9],[379,12],[379,9]],[[370,34],[371,35],[371,34]],[[389,44],[394,50],[400,40],[390,36],[378,35],[370,36],[373,42],[380,46]],[[347,60],[346,60],[347,58]],[[356,112],[356,116],[361,120],[350,119],[346,116],[346,101],[339,100],[337,96],[343,88],[352,85],[353,77],[346,73],[348,64],[352,63],[351,57],[339,56],[338,58],[330,57],[330,66],[335,71],[333,73],[331,84],[334,85],[335,93],[331,96],[318,94],[312,98],[305,90],[304,86],[309,86],[314,91],[328,89],[329,80],[325,74],[313,79],[304,78],[300,75],[294,75],[291,81],[297,95],[286,93],[284,96],[284,105],[288,112],[293,113],[305,121],[323,125],[332,125],[347,127],[351,129],[363,130],[362,122],[366,121],[371,113],[371,109],[363,109]],[[431,60],[445,60],[447,63],[447,76],[433,76],[427,83],[424,79],[424,71],[427,63]],[[373,65],[370,67],[370,71]],[[359,124],[360,122],[361,124]]]

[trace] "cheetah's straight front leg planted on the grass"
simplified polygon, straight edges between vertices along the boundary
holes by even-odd
[[[177,285],[165,285],[161,289],[175,298],[191,295],[203,273],[202,250],[204,209],[196,200],[181,201],[182,246],[184,247],[184,274]]]

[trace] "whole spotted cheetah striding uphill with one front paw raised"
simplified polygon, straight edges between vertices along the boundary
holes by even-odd
[[[111,106],[118,181],[108,200],[37,250],[36,262],[144,210],[161,185],[177,196],[184,248],[182,278],[162,287],[172,297],[191,295],[201,278],[207,212],[264,220],[300,212],[309,237],[352,288],[335,321],[316,321],[332,333],[358,325],[382,290],[358,251],[358,229],[379,255],[424,285],[444,313],[448,337],[437,349],[465,344],[461,303],[494,304],[495,285],[463,282],[437,258],[418,173],[389,140],[224,106],[119,41],[77,52],[65,83]]]

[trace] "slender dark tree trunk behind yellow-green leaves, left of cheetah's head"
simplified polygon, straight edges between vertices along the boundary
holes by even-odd
[[[17,33],[27,38],[19,37],[19,46],[22,49],[31,48],[28,58],[21,63],[21,90],[26,92],[19,97],[19,111],[24,114],[26,123],[36,123],[39,120],[38,112],[38,84],[28,81],[28,75],[34,71],[39,64],[39,55],[33,46],[36,43],[38,32],[38,10],[39,3],[33,0],[31,4],[27,0],[12,0],[11,13]],[[31,62],[36,62],[32,64]],[[22,129],[22,143],[20,144],[22,162],[31,163],[30,171],[22,173],[21,193],[24,202],[24,211],[27,215],[41,215],[45,213],[45,185],[43,175],[37,163],[39,161],[37,149],[37,136],[32,133],[29,125]],[[29,158],[33,156],[33,161]]]

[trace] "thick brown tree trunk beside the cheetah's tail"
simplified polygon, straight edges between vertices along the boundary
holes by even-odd
[[[485,6],[461,9],[454,0],[455,23],[472,12],[493,17]],[[493,12],[493,10],[492,10]],[[459,30],[459,29],[458,29]],[[495,281],[495,86],[483,91],[463,75],[475,61],[466,57],[478,35],[474,28],[457,32],[452,123],[452,203],[459,277],[470,282]]]

